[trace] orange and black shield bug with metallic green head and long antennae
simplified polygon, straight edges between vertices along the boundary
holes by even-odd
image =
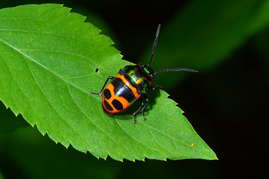
[[[158,85],[156,87],[152,87],[151,85],[152,79],[157,73],[182,70],[189,72],[198,72],[196,70],[187,68],[172,68],[153,72],[152,68],[149,67],[149,65],[151,64],[154,56],[160,27],[161,24],[159,24],[157,29],[156,38],[154,40],[152,54],[148,65],[127,65],[124,68],[120,69],[116,77],[108,76],[100,93],[91,92],[91,95],[103,95],[102,104],[105,112],[123,112],[126,109],[129,109],[139,99],[141,106],[139,107],[139,109],[137,109],[136,112],[134,112],[134,123],[136,123],[135,116],[141,108],[144,120],[146,120],[144,111],[149,104],[149,99],[147,98],[146,93],[149,92],[149,90],[157,90],[158,88],[162,88]],[[106,86],[110,79],[112,81],[110,81],[110,83]]]

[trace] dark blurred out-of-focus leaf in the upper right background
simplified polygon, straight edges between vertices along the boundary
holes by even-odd
[[[268,27],[268,7],[269,1],[260,0],[189,3],[170,22],[162,24],[152,69],[190,68],[201,74],[218,67],[248,38]],[[140,59],[149,58],[152,43],[153,37]],[[174,78],[169,73],[158,75],[155,82],[168,89],[191,73],[172,75]]]

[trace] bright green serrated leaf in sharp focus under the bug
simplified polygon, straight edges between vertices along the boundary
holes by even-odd
[[[217,159],[164,91],[149,93],[147,121],[139,114],[132,124],[136,105],[117,115],[103,112],[102,98],[90,92],[99,92],[108,75],[131,63],[85,17],[69,11],[58,4],[0,10],[5,106],[56,143],[97,158]]]

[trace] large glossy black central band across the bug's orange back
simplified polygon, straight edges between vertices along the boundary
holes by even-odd
[[[122,79],[114,78],[111,84],[114,86],[115,95],[125,98],[129,103],[135,100],[133,91],[123,83]]]

